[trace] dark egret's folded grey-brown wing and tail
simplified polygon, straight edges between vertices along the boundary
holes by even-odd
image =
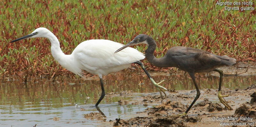
[[[218,56],[200,49],[182,46],[172,47],[167,55],[176,67],[188,72],[207,72],[225,64],[223,61],[230,60],[228,56]]]

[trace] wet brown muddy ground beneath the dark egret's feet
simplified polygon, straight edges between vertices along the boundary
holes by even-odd
[[[159,93],[147,93],[144,96],[137,96],[132,100],[120,100],[120,105],[152,105],[152,108],[147,108],[143,112],[137,112],[132,115],[132,118],[120,118],[120,123],[117,125],[116,120],[100,122],[101,126],[120,127],[215,127],[220,126],[220,123],[230,124],[253,124],[256,123],[256,85],[246,89],[222,89],[222,95],[230,95],[225,97],[226,101],[233,108],[228,110],[220,103],[216,89],[200,90],[201,96],[196,101],[195,105],[190,109],[188,115],[178,115],[184,113],[190,103],[193,101],[196,90],[170,90],[167,97],[161,99]],[[132,96],[137,93],[132,91],[124,91],[121,93],[108,93],[106,97],[113,96]],[[240,119],[240,117],[242,119]],[[100,113],[86,114],[85,118],[104,120],[104,116]],[[215,119],[216,118],[216,119]],[[220,118],[220,120],[217,120]],[[228,120],[233,118],[233,120]],[[252,118],[247,120],[246,118]],[[213,120],[215,119],[215,120]],[[239,126],[239,125],[238,125]]]

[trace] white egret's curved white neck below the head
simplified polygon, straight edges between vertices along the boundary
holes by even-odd
[[[52,32],[47,33],[47,38],[50,40],[52,44],[52,56],[61,64],[61,62],[65,59],[66,55],[60,49],[60,42],[58,38]]]

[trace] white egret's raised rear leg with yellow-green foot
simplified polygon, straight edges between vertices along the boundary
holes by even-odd
[[[156,83],[156,82],[154,81],[154,79],[149,75],[148,71],[145,69],[145,67],[143,66],[143,64],[142,64],[140,61],[137,61],[137,62],[134,62],[134,63],[140,65],[140,67],[144,70],[144,72],[146,73],[146,75],[148,75],[148,78],[151,80],[151,82],[156,86],[156,88],[157,88],[158,91],[160,92],[161,96],[163,97],[163,95],[162,95],[162,92],[163,92],[164,95],[165,95],[165,97],[166,97],[166,93],[165,93],[162,89],[164,89],[164,90],[166,90],[166,91],[167,91],[167,89],[164,88],[163,86],[159,85],[159,84],[163,83],[166,79],[162,80],[162,81],[159,82],[159,83]],[[162,88],[162,89],[161,89],[161,88]],[[161,92],[161,91],[162,91],[162,92]]]

